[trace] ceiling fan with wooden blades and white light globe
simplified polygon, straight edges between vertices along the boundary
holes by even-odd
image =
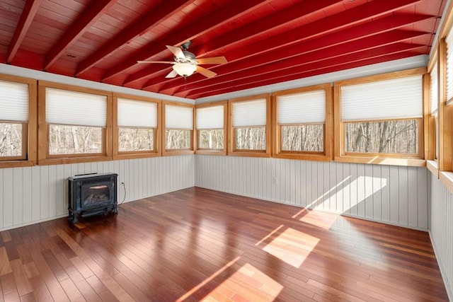
[[[195,71],[199,72],[207,78],[212,78],[217,74],[214,71],[205,69],[200,64],[225,64],[227,61],[225,57],[210,57],[197,59],[195,54],[188,51],[188,48],[192,45],[191,41],[183,43],[180,47],[174,47],[166,45],[170,50],[175,59],[175,62],[168,61],[137,61],[137,63],[162,63],[162,64],[173,64],[173,70],[166,75],[166,78],[174,78],[178,74],[184,78],[191,76]]]

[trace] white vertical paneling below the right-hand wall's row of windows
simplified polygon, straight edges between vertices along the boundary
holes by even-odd
[[[195,185],[428,230],[426,168],[196,155]]]

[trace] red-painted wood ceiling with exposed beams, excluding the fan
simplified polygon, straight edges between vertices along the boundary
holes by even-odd
[[[0,62],[202,98],[429,54],[446,0],[0,0]],[[217,76],[167,79],[166,45]],[[1,72],[1,70],[0,70]]]

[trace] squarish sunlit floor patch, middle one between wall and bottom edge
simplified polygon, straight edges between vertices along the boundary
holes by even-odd
[[[319,238],[299,232],[294,228],[287,228],[263,250],[283,262],[299,268],[318,243]]]

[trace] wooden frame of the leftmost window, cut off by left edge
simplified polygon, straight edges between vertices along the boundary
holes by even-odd
[[[0,168],[29,167],[38,162],[38,81],[21,76],[0,74],[0,80],[28,85],[28,122],[22,124],[22,153],[20,157],[0,160]]]

